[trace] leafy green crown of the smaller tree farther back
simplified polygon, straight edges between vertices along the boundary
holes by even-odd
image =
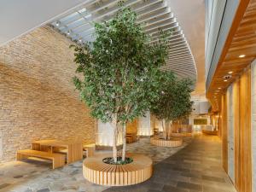
[[[160,97],[152,104],[151,112],[158,119],[167,121],[188,116],[193,105],[190,101],[193,81],[177,79],[174,73],[165,72],[162,73],[160,82]]]

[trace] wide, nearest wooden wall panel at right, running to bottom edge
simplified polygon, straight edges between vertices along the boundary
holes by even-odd
[[[251,69],[241,74],[240,79],[239,130],[236,135],[236,189],[239,192],[252,191],[252,149],[251,149]]]

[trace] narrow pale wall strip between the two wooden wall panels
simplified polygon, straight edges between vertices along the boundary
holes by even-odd
[[[234,136],[234,129],[235,129],[235,119],[234,119],[234,85],[231,84],[227,90],[227,121],[228,121],[228,174],[235,183],[235,136]]]

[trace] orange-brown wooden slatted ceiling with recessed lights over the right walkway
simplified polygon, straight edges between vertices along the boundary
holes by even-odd
[[[213,100],[213,96],[219,98],[219,94],[215,94],[214,90],[218,87],[221,88],[220,93],[224,93],[224,90],[236,80],[236,78],[241,75],[241,72],[256,58],[256,1],[251,0],[241,1],[242,3],[247,3],[247,8],[243,9],[243,16],[236,27],[235,34],[229,39],[230,46],[227,48],[227,54],[224,55],[222,62],[218,64],[218,68],[213,76],[212,84],[207,91],[207,97]],[[235,21],[239,20],[239,17],[235,18]],[[235,27],[233,27],[235,28]],[[232,27],[231,27],[232,29]],[[239,55],[246,55],[243,58],[239,58]],[[224,75],[232,71],[232,77],[228,82],[224,82]],[[213,111],[218,111],[218,102],[213,102]]]

